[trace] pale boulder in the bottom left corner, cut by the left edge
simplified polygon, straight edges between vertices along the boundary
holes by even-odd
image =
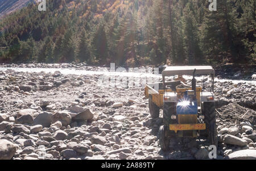
[[[17,145],[8,140],[0,140],[0,160],[11,160],[17,148]]]

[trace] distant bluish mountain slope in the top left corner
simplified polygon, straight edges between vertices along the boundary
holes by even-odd
[[[30,2],[34,2],[34,0],[0,0],[0,18],[11,14],[11,12],[22,9]]]

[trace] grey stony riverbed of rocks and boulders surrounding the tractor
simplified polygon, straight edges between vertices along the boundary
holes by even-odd
[[[174,138],[171,150],[161,151],[162,112],[159,119],[151,118],[143,86],[99,86],[98,74],[36,72],[36,67],[107,68],[24,67],[35,72],[0,70],[0,159],[209,159],[205,137]],[[215,82],[217,159],[256,159],[255,86]]]

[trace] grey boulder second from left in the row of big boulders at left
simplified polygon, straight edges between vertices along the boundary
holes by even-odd
[[[51,112],[42,112],[36,116],[33,125],[40,124],[43,127],[49,127],[51,126],[52,122],[52,113]]]

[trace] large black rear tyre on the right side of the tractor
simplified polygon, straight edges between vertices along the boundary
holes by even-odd
[[[204,102],[204,117],[206,124],[206,133],[211,145],[218,147],[216,113],[214,102]]]

